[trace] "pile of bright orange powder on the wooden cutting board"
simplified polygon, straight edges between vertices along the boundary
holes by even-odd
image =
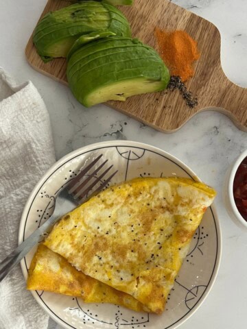
[[[162,31],[156,27],[154,34],[163,61],[171,75],[181,77],[183,82],[193,77],[193,62],[200,58],[197,42],[185,31]]]

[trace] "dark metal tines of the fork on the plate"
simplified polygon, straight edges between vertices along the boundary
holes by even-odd
[[[73,195],[74,199],[78,199],[78,198],[82,199],[83,197],[85,197],[89,193],[89,191],[91,191],[91,189],[97,185],[98,182],[101,182],[102,184],[100,184],[97,187],[95,192],[101,191],[108,184],[108,182],[110,182],[113,176],[117,173],[117,171],[115,171],[110,176],[108,176],[108,178],[103,180],[106,173],[108,173],[108,171],[112,169],[113,165],[111,165],[106,170],[104,170],[104,172],[101,173],[98,177],[96,176],[97,173],[100,171],[100,169],[102,169],[106,164],[106,162],[108,162],[108,160],[105,160],[104,162],[102,162],[102,164],[99,165],[99,167],[94,169],[93,172],[89,174],[90,169],[92,169],[95,166],[95,164],[99,161],[100,158],[102,158],[102,156],[103,154],[100,154],[100,156],[98,156],[95,160],[93,160],[93,162],[91,162],[88,166],[86,166],[77,175],[77,177],[74,178],[67,186],[69,194]]]

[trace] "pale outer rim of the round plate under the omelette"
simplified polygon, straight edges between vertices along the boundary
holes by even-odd
[[[186,171],[186,173],[188,175],[190,175],[193,180],[198,180],[198,181],[202,182],[202,180],[200,180],[200,178],[198,178],[198,175],[196,175],[196,173],[194,173],[193,170],[190,169],[187,166],[187,164],[185,164],[183,161],[176,158],[176,156],[169,154],[167,151],[164,151],[163,149],[160,149],[160,148],[155,147],[150,144],[136,142],[136,141],[118,140],[118,141],[103,141],[103,142],[99,142],[99,143],[85,145],[84,147],[75,149],[74,151],[71,151],[69,154],[62,156],[62,158],[60,158],[58,161],[56,161],[54,164],[52,164],[51,167],[49,167],[49,169],[47,169],[47,171],[45,171],[45,173],[40,178],[40,180],[38,180],[38,182],[32,189],[32,192],[30,193],[30,196],[28,197],[27,202],[25,203],[25,207],[23,208],[23,212],[22,212],[21,220],[20,220],[20,224],[19,224],[18,244],[23,242],[23,237],[24,237],[23,234],[25,232],[25,225],[26,225],[25,219],[28,215],[30,206],[32,206],[32,202],[34,201],[40,187],[49,179],[49,177],[54,173],[54,171],[58,170],[59,167],[62,167],[62,165],[64,165],[65,162],[72,160],[73,158],[79,156],[80,154],[83,154],[83,153],[85,154],[89,151],[93,151],[94,149],[98,149],[98,148],[104,149],[107,147],[137,147],[137,148],[139,147],[142,149],[149,149],[150,151],[154,151],[157,154],[166,156],[167,158],[169,158],[169,160],[172,160],[172,162],[174,162],[179,167],[184,169]],[[216,252],[216,259],[215,259],[215,264],[214,264],[214,268],[213,268],[213,273],[211,274],[211,278],[209,279],[209,284],[207,285],[207,288],[205,289],[203,295],[200,297],[200,300],[198,300],[198,302],[195,304],[195,306],[193,306],[193,308],[188,310],[188,312],[185,313],[185,315],[183,315],[182,318],[178,319],[176,322],[171,324],[169,327],[166,327],[165,329],[168,329],[168,328],[175,329],[175,328],[178,328],[178,326],[180,326],[181,324],[185,323],[185,321],[187,321],[187,319],[189,319],[196,312],[196,310],[198,310],[198,308],[200,308],[200,306],[202,305],[204,300],[206,300],[206,298],[209,295],[209,292],[211,291],[213,284],[215,283],[215,280],[217,278],[217,274],[220,269],[220,262],[221,262],[221,258],[222,258],[222,230],[220,227],[220,220],[217,215],[217,211],[216,211],[214,203],[210,206],[210,209],[211,209],[212,215],[214,217],[215,228],[216,228],[216,232],[217,232],[217,252]],[[23,258],[21,260],[21,270],[23,272],[24,280],[26,281],[27,269],[26,269],[25,258]],[[47,304],[45,304],[45,302],[43,302],[43,300],[38,298],[40,296],[38,295],[37,291],[30,291],[30,292],[34,296],[34,299],[36,300],[36,302],[38,302],[38,304],[43,308],[43,310],[45,310],[45,312],[47,312],[49,317],[54,319],[54,321],[56,321],[57,324],[59,324],[60,326],[62,326],[63,328],[66,328],[66,329],[69,329],[69,328],[77,329],[76,327],[65,323],[62,319],[60,319],[60,317],[58,317],[58,315],[55,315],[53,313],[53,311],[49,308],[49,306],[47,306]]]

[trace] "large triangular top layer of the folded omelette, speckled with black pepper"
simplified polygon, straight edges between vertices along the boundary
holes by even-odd
[[[214,197],[213,188],[187,178],[137,178],[64,215],[44,244],[86,276],[161,313]]]

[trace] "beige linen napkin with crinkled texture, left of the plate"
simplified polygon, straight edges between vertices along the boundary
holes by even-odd
[[[32,82],[0,67],[0,260],[16,246],[25,202],[55,161],[49,115]],[[20,265],[0,283],[1,329],[46,329],[49,316],[25,289]]]

